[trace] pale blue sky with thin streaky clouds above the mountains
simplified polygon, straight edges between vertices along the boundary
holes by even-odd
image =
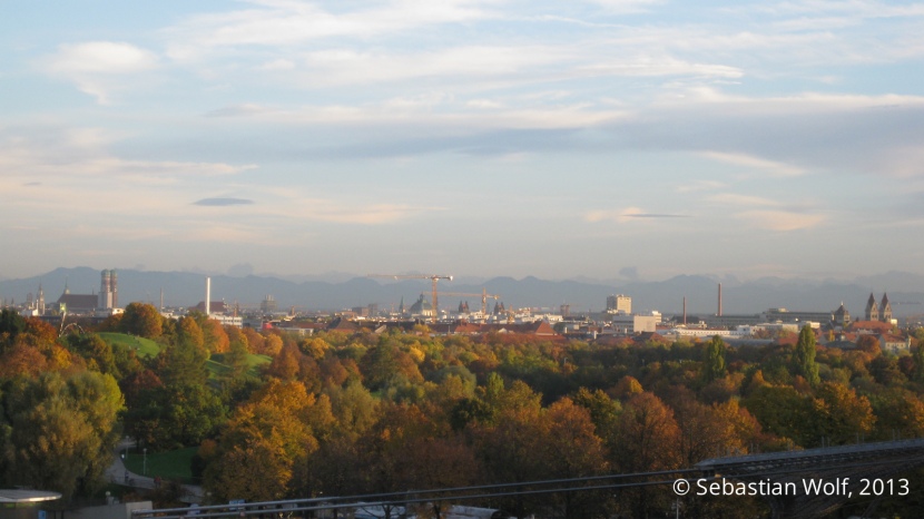
[[[924,274],[924,2],[0,2],[0,277]]]

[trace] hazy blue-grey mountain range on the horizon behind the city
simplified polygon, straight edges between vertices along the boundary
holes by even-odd
[[[257,306],[272,296],[281,310],[298,306],[304,310],[342,310],[377,304],[380,309],[396,310],[402,298],[410,306],[421,294],[430,300],[431,284],[426,280],[377,280],[363,276],[348,277],[337,273],[343,281],[284,280],[266,275],[213,275],[212,298],[242,306]],[[119,303],[132,301],[158,304],[160,291],[167,306],[193,306],[205,298],[205,274],[189,272],[146,272],[118,270]],[[45,290],[47,303],[61,295],[65,285],[75,294],[98,293],[100,271],[88,267],[57,268],[40,276],[0,281],[0,300],[11,298],[22,303],[27,294],[36,294],[39,283]],[[507,307],[545,307],[558,311],[559,305],[571,305],[572,313],[602,311],[607,296],[626,294],[632,297],[632,307],[658,310],[665,314],[682,311],[687,298],[689,314],[714,314],[718,309],[718,284],[723,284],[723,311],[726,314],[757,313],[771,307],[794,311],[834,311],[843,302],[852,315],[862,315],[866,300],[873,292],[877,301],[887,291],[896,316],[924,314],[924,276],[888,272],[864,276],[853,282],[834,280],[793,280],[765,277],[741,282],[708,275],[679,275],[669,280],[635,281],[621,285],[615,283],[581,281],[547,281],[537,277],[475,277],[441,281],[441,292],[499,294]],[[475,310],[480,296],[441,296],[441,307],[455,307],[468,301]],[[493,301],[490,301],[493,306]]]

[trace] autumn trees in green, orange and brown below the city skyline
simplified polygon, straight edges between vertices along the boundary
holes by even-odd
[[[775,345],[740,349],[719,337],[599,345],[435,336],[425,326],[297,337],[223,327],[201,314],[165,321],[153,306],[132,304],[100,331],[160,344],[158,355],[139,359],[94,333],[58,339],[37,321],[8,317],[0,320],[3,474],[10,484],[71,493],[92,490],[119,427],[149,450],[199,447],[195,469],[216,501],[661,471],[720,456],[924,432],[921,350],[894,356],[869,342],[825,349],[807,329]],[[253,369],[254,354],[267,362]],[[209,372],[209,360],[224,368]],[[23,395],[49,395],[37,388],[53,385],[60,407],[78,413],[75,402],[92,394],[82,389],[88,381],[98,381],[97,393],[109,402],[87,398],[80,415],[100,439],[96,450],[80,452],[97,452],[97,461],[73,458],[85,469],[69,487],[17,470],[41,466],[38,454],[24,453],[35,451],[28,438],[40,435],[31,431],[45,425],[27,419]],[[97,413],[97,404],[111,411]],[[101,418],[117,411],[118,422]],[[61,459],[59,451],[52,458]],[[438,499],[419,512],[439,517],[448,503]],[[669,511],[675,497],[641,488],[484,505],[519,517],[641,518]],[[765,510],[740,499],[687,498],[680,506],[687,517]]]

